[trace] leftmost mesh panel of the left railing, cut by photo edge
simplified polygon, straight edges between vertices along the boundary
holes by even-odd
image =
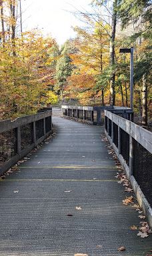
[[[3,165],[17,153],[16,129],[0,134],[0,165]]]

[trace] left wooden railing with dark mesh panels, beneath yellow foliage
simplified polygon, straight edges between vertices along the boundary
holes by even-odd
[[[51,130],[51,109],[43,109],[35,115],[19,117],[14,121],[0,121],[0,174],[48,137]]]

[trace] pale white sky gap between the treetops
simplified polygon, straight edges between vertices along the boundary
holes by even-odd
[[[23,30],[38,28],[59,45],[75,37],[71,27],[83,26],[70,11],[89,9],[91,0],[22,0]]]

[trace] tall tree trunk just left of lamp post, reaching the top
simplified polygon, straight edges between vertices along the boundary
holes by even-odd
[[[113,16],[111,25],[110,39],[110,66],[113,69],[115,64],[115,29],[117,24],[117,0],[113,2]],[[115,105],[115,71],[111,72],[110,77],[110,105]]]

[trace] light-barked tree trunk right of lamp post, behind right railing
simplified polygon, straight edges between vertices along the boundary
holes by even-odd
[[[146,75],[143,75],[143,113],[142,113],[142,123],[147,125],[147,81]]]

